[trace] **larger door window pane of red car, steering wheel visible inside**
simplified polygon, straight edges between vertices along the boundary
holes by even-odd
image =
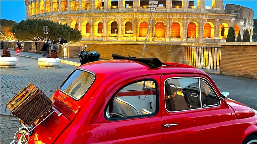
[[[164,83],[166,109],[170,112],[200,108],[198,78],[174,78]]]

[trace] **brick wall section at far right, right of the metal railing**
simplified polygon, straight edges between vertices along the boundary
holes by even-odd
[[[256,45],[222,45],[220,71],[256,78]]]

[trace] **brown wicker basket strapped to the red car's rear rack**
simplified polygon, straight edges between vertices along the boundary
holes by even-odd
[[[14,116],[24,124],[31,125],[48,112],[53,103],[42,90],[30,83],[8,101],[7,105]]]

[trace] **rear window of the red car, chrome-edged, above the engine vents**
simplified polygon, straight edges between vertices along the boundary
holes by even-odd
[[[60,86],[60,90],[74,99],[80,99],[93,84],[95,75],[84,70],[75,70]]]

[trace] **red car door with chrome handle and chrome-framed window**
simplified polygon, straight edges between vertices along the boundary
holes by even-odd
[[[164,143],[234,143],[231,111],[207,78],[162,75],[161,84]]]

